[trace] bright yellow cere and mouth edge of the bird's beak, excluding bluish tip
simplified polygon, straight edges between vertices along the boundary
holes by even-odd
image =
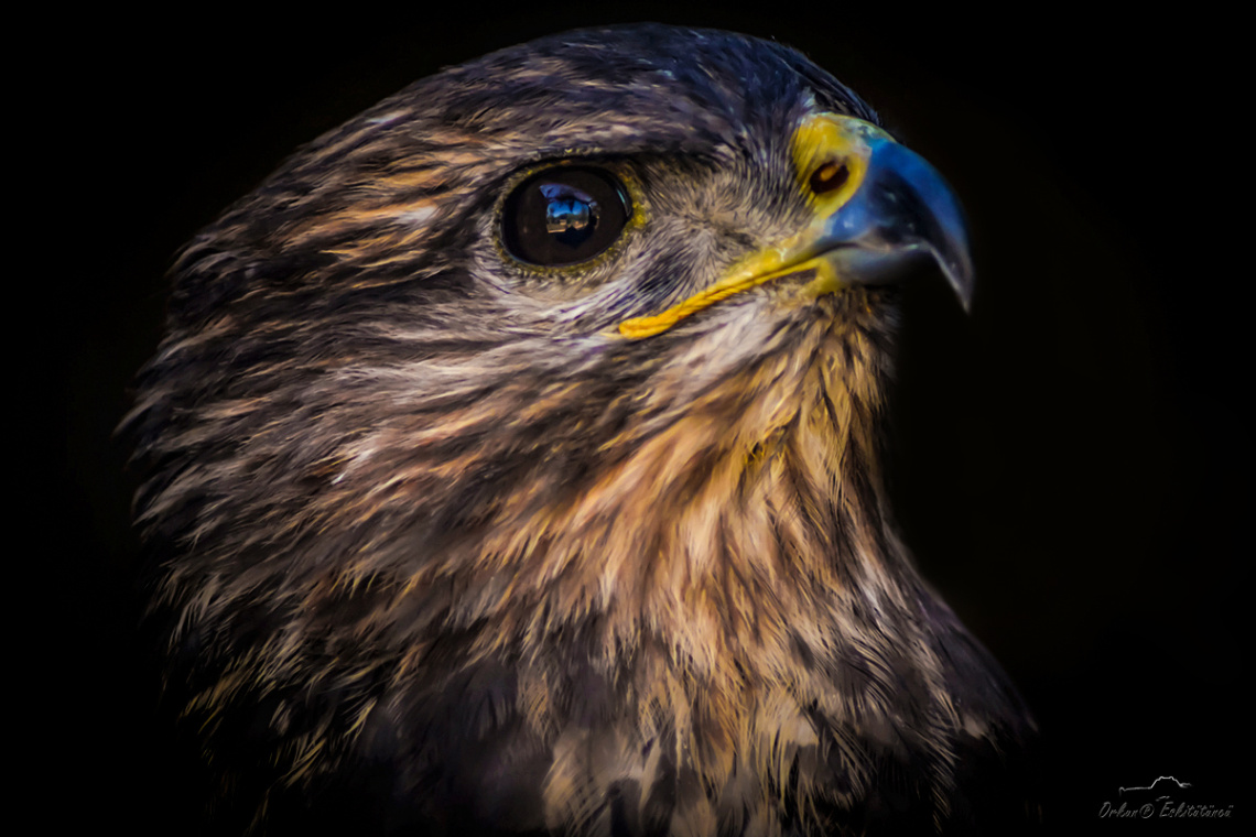
[[[791,152],[798,186],[813,207],[811,222],[784,241],[737,261],[717,282],[666,311],[624,320],[619,324],[619,334],[632,340],[662,334],[708,305],[803,270],[816,270],[816,279],[808,286],[816,295],[840,289],[842,282],[833,266],[819,257],[818,242],[824,236],[829,216],[859,191],[872,154],[869,139],[877,136],[885,134],[872,123],[854,117],[818,113],[804,119],[794,132]],[[825,166],[833,171],[834,164],[845,166],[845,181],[818,195],[811,188],[813,176]]]

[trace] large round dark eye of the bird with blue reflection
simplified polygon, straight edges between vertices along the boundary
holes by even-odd
[[[501,240],[529,265],[575,265],[614,243],[631,215],[627,189],[609,172],[549,168],[506,198]]]

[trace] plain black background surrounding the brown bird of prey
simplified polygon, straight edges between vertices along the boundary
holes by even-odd
[[[30,218],[48,242],[30,284],[64,353],[64,473],[31,521],[58,591],[40,625],[65,629],[31,632],[54,640],[34,774],[53,793],[49,823],[190,831],[192,778],[151,720],[133,484],[111,439],[160,338],[173,252],[298,144],[411,80],[633,20],[800,48],[966,205],[977,296],[965,317],[941,282],[911,289],[892,491],[926,575],[1039,718],[1055,831],[1232,829],[1100,822],[1119,787],[1158,776],[1250,819],[1238,567],[1251,558],[1252,178],[1233,21],[1202,6],[779,3],[324,14],[75,19],[24,83],[36,104],[16,124],[38,148],[19,174],[48,201]]]

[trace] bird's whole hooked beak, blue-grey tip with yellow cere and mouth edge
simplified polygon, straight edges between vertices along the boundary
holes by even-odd
[[[810,223],[662,314],[620,323],[623,336],[659,334],[734,294],[805,270],[816,274],[808,290],[820,295],[896,281],[933,261],[968,309],[972,259],[963,211],[923,157],[872,123],[831,113],[799,125],[793,153]]]

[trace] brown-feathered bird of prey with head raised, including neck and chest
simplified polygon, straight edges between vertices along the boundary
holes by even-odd
[[[882,486],[922,260],[967,300],[938,173],[726,33],[543,39],[300,149],[177,260],[128,422],[222,827],[1011,833],[1032,722]]]

